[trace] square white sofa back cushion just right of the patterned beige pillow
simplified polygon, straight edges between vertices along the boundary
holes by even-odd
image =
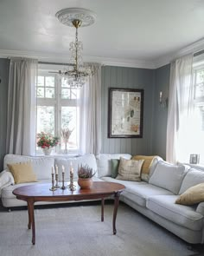
[[[159,161],[150,177],[149,183],[178,194],[188,169],[189,167],[184,165],[177,166],[166,161]]]

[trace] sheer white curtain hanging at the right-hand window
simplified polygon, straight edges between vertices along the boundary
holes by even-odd
[[[169,162],[187,161],[190,148],[193,113],[193,54],[171,63],[169,110],[167,121],[166,159]]]

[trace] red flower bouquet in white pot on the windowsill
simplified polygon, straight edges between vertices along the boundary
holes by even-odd
[[[46,155],[51,154],[53,148],[59,143],[59,137],[41,132],[37,134],[37,146]]]

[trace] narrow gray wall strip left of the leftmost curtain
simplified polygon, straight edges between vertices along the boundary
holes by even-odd
[[[3,170],[3,157],[6,154],[7,97],[10,61],[0,59],[0,170]]]

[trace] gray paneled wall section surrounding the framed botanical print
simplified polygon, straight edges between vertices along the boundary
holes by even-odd
[[[155,70],[105,66],[102,68],[102,153],[151,154]],[[107,137],[108,89],[143,89],[143,138]]]

